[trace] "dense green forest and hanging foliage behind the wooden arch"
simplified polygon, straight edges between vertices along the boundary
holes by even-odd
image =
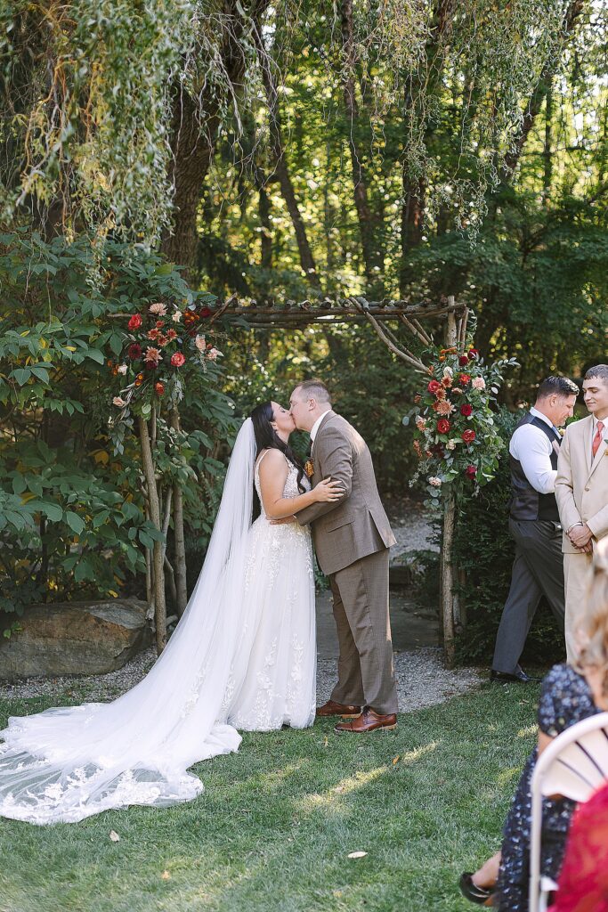
[[[106,520],[94,525],[137,473],[136,441],[118,462],[108,439],[104,319],[169,264],[181,276],[171,294],[187,283],[277,307],[455,295],[482,356],[519,360],[501,392],[510,409],[547,374],[580,378],[605,361],[606,17],[595,0],[7,0],[2,487],[6,510],[30,492],[63,513],[5,524],[5,610],[133,588],[137,548],[119,526],[100,541]],[[54,321],[63,348],[45,347]],[[192,381],[181,409],[193,551],[204,553],[237,419],[310,375],[373,440],[383,492],[407,490],[401,419],[417,379],[370,327],[214,331],[221,366]],[[26,332],[34,347],[10,336]],[[75,360],[69,337],[101,363]],[[49,460],[65,477],[42,492]],[[76,531],[90,533],[79,565]]]

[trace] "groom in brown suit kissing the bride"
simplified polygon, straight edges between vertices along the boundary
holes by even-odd
[[[310,433],[313,484],[331,476],[345,495],[314,503],[295,518],[312,523],[314,547],[334,596],[338,682],[317,716],[349,716],[335,731],[361,733],[397,725],[397,689],[388,616],[388,548],[395,544],[376,488],[372,459],[355,428],[332,411],[320,380],[294,389],[291,414]]]

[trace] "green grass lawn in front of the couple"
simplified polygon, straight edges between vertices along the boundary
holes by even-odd
[[[246,733],[238,754],[199,764],[196,801],[168,810],[0,818],[0,910],[464,912],[459,873],[500,845],[538,695],[487,685],[366,737],[331,721]],[[0,703],[0,726],[58,702]]]

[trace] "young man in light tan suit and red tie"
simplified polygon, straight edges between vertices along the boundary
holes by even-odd
[[[566,428],[555,479],[563,526],[569,662],[576,657],[576,630],[584,612],[593,548],[608,534],[608,364],[589,368],[582,391],[590,414]]]

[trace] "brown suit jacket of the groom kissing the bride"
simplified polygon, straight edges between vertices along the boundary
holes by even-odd
[[[295,514],[301,525],[312,523],[323,572],[337,573],[361,557],[395,544],[366,441],[331,409],[316,432],[312,460],[314,484],[331,476],[345,490],[337,503],[313,503]]]

